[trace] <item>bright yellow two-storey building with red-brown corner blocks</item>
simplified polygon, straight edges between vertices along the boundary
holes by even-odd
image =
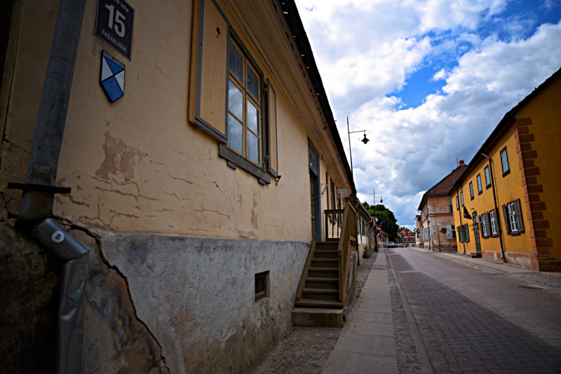
[[[506,113],[454,186],[459,251],[561,270],[560,76]]]

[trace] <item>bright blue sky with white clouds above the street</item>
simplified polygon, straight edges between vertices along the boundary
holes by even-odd
[[[376,188],[400,225],[414,228],[423,193],[561,68],[559,0],[296,4],[344,146],[346,116],[371,140],[351,134],[358,197]]]

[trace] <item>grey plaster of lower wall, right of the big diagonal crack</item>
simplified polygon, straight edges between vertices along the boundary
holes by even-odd
[[[183,235],[102,236],[171,373],[250,373],[292,326],[309,243]],[[271,296],[255,302],[255,274]]]

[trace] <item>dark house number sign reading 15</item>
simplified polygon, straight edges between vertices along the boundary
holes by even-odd
[[[130,61],[135,10],[123,0],[97,0],[95,36]]]

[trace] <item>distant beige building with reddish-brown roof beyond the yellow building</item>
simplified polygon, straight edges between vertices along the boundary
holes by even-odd
[[[454,228],[452,188],[466,167],[464,161],[460,161],[456,169],[429,188],[421,198],[418,208],[421,212],[419,220],[421,235],[419,236],[425,249],[438,252],[456,252],[458,250]]]

